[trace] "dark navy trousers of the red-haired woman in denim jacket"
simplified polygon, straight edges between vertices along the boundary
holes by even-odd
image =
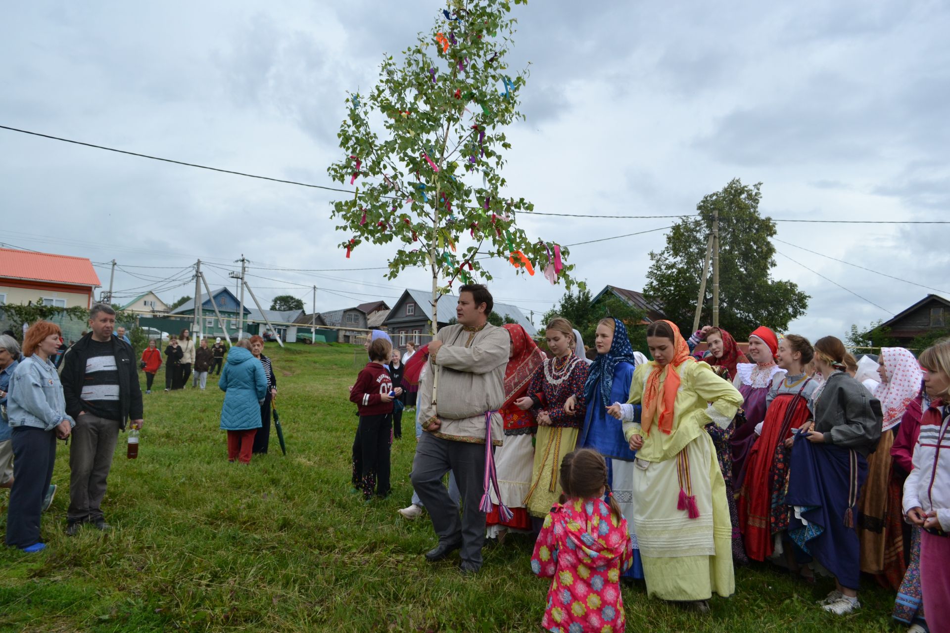
[[[15,426],[10,440],[13,488],[7,509],[7,545],[28,548],[40,542],[40,513],[53,478],[56,433],[33,426]]]

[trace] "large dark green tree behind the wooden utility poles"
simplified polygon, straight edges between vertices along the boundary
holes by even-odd
[[[719,325],[738,341],[758,326],[784,330],[805,314],[810,297],[790,281],[773,279],[775,223],[759,214],[762,183],[744,185],[738,178],[696,205],[698,217],[677,222],[666,247],[651,252],[652,264],[643,293],[688,336],[706,243],[714,211],[719,212]],[[712,273],[706,285],[700,325],[712,323]]]

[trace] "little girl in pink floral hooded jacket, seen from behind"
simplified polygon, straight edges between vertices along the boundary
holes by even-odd
[[[607,488],[607,464],[597,451],[579,449],[564,456],[561,503],[544,518],[531,557],[531,569],[552,578],[542,620],[547,631],[624,630],[620,574],[633,561],[633,546],[627,521]]]

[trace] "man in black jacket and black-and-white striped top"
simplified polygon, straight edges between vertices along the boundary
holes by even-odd
[[[112,307],[93,306],[92,332],[66,350],[60,369],[66,413],[76,420],[69,447],[69,536],[85,523],[109,530],[101,505],[119,430],[124,431],[126,420],[133,429],[142,428],[136,358],[131,345],[112,336],[115,321]]]

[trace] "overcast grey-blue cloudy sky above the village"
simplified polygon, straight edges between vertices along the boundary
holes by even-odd
[[[0,124],[333,184],[326,168],[343,154],[335,135],[346,92],[368,91],[383,54],[412,44],[444,6],[13,3],[0,21]],[[536,0],[514,15],[511,59],[531,74],[504,175],[509,193],[537,211],[692,213],[740,177],[764,183],[761,210],[775,218],[950,218],[946,3]],[[374,298],[391,305],[401,289],[428,288],[425,270],[392,281],[356,270],[385,266],[390,247],[346,259],[333,196],[0,130],[0,241],[115,258],[145,277],[117,272],[117,295],[176,274],[133,266],[183,269],[201,257],[233,269],[241,253],[254,262],[249,272],[279,280],[249,277],[265,307],[291,292],[309,310],[309,290],[291,283],[320,288],[320,311]],[[561,243],[668,224],[521,221],[529,235]],[[571,261],[594,292],[639,290],[662,235],[580,246]],[[780,222],[778,237],[950,296],[950,225]],[[884,308],[776,255],[774,275],[812,296],[789,331],[812,338],[889,318],[933,291],[776,246]],[[107,267],[97,270],[107,286]],[[227,281],[226,270],[206,270],[213,286]],[[540,274],[515,278],[507,263],[491,270],[493,294],[525,312],[543,312],[563,292]],[[170,303],[193,292],[160,294]]]

